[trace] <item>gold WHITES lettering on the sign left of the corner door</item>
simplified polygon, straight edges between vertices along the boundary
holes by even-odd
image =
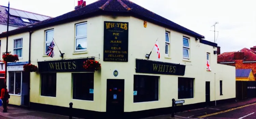
[[[56,63],[49,63],[51,70],[61,70],[63,69],[76,69],[76,63],[75,62],[56,62]]]

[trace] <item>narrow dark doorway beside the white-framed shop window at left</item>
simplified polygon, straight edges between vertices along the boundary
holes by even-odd
[[[29,73],[22,72],[21,105],[29,106]]]

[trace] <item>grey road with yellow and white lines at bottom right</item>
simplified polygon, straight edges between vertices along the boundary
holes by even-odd
[[[201,119],[256,119],[256,103],[200,116]]]

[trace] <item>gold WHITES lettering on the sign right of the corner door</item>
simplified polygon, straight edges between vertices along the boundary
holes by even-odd
[[[153,64],[153,71],[175,73],[176,66]]]

